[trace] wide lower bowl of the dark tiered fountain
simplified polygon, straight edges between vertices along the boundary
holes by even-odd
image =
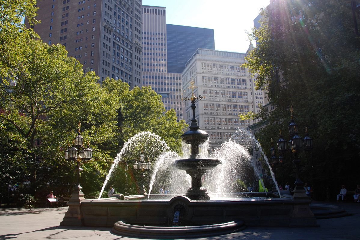
[[[175,161],[175,167],[180,170],[209,170],[221,164],[219,159],[211,158],[192,158],[192,159],[178,159]]]

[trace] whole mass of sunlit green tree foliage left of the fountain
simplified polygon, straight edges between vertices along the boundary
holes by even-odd
[[[113,79],[100,85],[64,46],[36,40],[21,23],[23,17],[29,26],[37,23],[35,6],[36,0],[0,3],[0,199],[10,194],[9,184],[39,199],[49,188],[68,195],[75,163],[64,160],[64,150],[79,120],[94,151],[92,161],[81,163],[86,195],[101,189],[114,156],[141,131],[160,135],[180,153],[187,126],[177,123],[174,110],[165,112],[161,96]],[[25,180],[30,187],[23,188]]]

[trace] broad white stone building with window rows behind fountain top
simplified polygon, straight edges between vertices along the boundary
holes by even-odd
[[[191,96],[188,87],[194,80],[195,96],[205,97],[196,102],[195,118],[199,127],[210,135],[212,149],[228,141],[238,128],[249,130],[258,121],[239,117],[239,114],[259,112],[264,104],[264,91],[255,90],[255,79],[242,67],[245,56],[238,52],[198,49],[185,64],[182,93]],[[190,124],[192,112],[188,101],[183,104],[183,116]]]

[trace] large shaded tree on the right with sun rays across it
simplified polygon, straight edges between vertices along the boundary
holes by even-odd
[[[256,88],[267,89],[275,107],[259,115],[269,125],[257,137],[268,146],[270,138],[277,139],[275,133],[283,129],[289,139],[285,130],[292,105],[299,132],[308,127],[314,139],[312,157],[301,156],[302,179],[313,183],[323,196],[325,189],[337,189],[341,183],[355,188],[360,38],[354,32],[350,1],[284,3],[267,6],[261,13],[261,28],[250,34],[257,39],[257,47],[249,52],[245,66],[257,76]]]

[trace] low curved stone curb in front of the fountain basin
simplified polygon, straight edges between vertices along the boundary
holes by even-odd
[[[114,224],[112,232],[121,236],[154,238],[154,239],[180,239],[193,237],[207,237],[230,234],[245,229],[244,221],[232,221],[213,225],[158,227],[130,225],[122,221]]]

